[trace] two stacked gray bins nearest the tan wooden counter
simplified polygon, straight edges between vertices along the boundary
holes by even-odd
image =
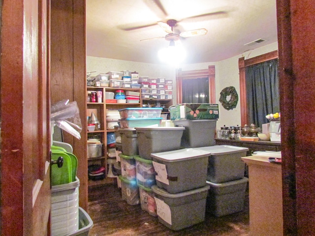
[[[248,178],[244,177],[245,164],[241,157],[246,156],[249,149],[228,145],[195,149],[210,152],[207,211],[215,216],[242,211]]]

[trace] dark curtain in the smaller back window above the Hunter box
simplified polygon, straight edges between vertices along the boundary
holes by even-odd
[[[183,103],[209,103],[209,79],[185,79],[182,84]]]

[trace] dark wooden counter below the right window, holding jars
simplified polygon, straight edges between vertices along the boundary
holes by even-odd
[[[281,151],[281,142],[215,139],[215,144],[249,148],[247,156],[251,156],[254,151]]]

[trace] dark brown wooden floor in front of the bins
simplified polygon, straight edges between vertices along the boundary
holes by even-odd
[[[94,226],[89,236],[249,236],[248,191],[242,212],[215,217],[206,213],[205,221],[172,231],[158,222],[140,205],[122,200],[116,183],[89,187],[89,215]]]

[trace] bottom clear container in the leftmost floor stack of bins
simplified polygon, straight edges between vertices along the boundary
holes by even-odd
[[[140,194],[139,187],[137,185],[136,179],[129,180],[122,176],[119,176],[122,184],[122,198],[129,205],[139,205],[140,204]]]

